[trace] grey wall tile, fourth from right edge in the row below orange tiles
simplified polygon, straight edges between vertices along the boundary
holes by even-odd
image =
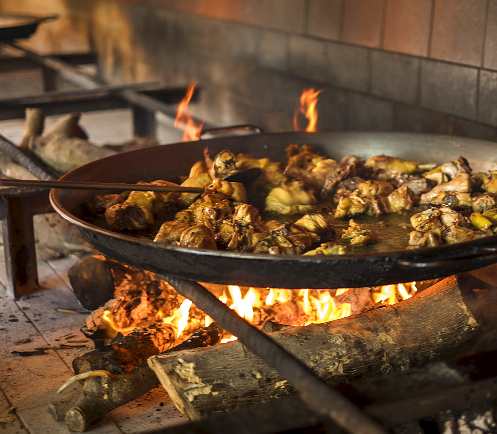
[[[325,79],[332,86],[366,92],[369,87],[370,50],[329,42]]]

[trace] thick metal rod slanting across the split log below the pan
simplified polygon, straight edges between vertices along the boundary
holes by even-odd
[[[387,433],[379,423],[326,384],[304,363],[239,317],[203,286],[178,278],[163,278],[292,383],[300,391],[302,399],[316,412],[350,433]]]

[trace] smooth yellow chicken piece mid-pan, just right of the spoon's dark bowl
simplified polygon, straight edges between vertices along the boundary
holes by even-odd
[[[265,210],[283,215],[299,214],[312,211],[316,203],[313,192],[302,182],[290,181],[269,191]]]

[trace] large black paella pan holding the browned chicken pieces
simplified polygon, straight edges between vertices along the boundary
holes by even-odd
[[[176,180],[201,158],[204,146],[284,161],[289,144],[311,143],[339,159],[387,154],[420,162],[443,163],[465,156],[474,171],[497,168],[493,142],[408,133],[275,133],[175,143],[126,152],[81,166],[67,181],[136,182]],[[497,236],[429,249],[327,257],[271,256],[164,246],[110,232],[84,221],[90,190],[54,189],[52,205],[77,225],[104,255],[161,274],[222,284],[282,288],[339,288],[382,285],[448,276],[497,262]]]

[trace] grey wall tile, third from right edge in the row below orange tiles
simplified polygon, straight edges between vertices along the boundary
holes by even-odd
[[[371,93],[414,104],[419,95],[419,59],[403,54],[373,50]]]

